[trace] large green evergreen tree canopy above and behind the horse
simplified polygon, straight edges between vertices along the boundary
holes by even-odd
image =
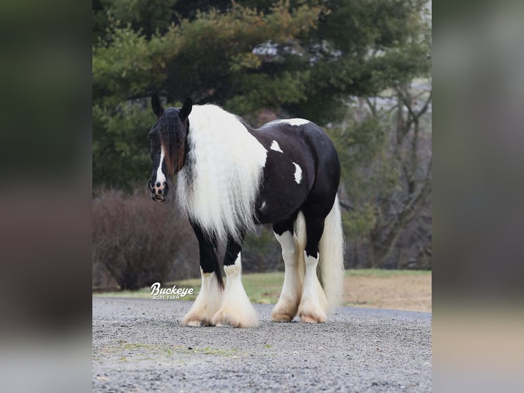
[[[339,121],[348,97],[428,71],[417,37],[425,3],[94,2],[94,182],[131,189],[146,176],[153,92],[170,105],[191,96],[241,116],[272,109]]]

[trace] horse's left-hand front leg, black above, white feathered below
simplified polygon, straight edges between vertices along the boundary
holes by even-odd
[[[220,265],[218,264],[215,251],[216,244],[205,236],[197,224],[191,223],[191,225],[198,239],[202,286],[191,309],[182,319],[182,324],[188,326],[209,326],[213,325],[213,315],[222,303],[224,283],[222,282]]]

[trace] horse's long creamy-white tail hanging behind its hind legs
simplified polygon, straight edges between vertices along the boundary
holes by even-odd
[[[320,277],[328,299],[326,312],[332,312],[341,302],[344,286],[344,234],[338,195],[324,220],[319,253]]]

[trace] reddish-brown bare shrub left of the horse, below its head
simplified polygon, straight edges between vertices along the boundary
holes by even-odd
[[[186,263],[194,235],[174,201],[153,202],[144,190],[132,195],[108,190],[94,199],[92,210],[93,264],[105,266],[122,290],[163,282],[169,275],[183,279],[194,275],[192,270],[198,273],[198,259]],[[173,266],[175,258],[179,268]],[[196,268],[190,268],[191,262]]]

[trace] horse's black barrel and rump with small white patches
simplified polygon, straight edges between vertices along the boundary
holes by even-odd
[[[252,133],[267,149],[257,209],[261,222],[284,218],[307,200],[332,203],[340,164],[335,146],[321,127],[304,119],[289,119],[266,123]],[[271,214],[266,216],[264,207]]]

